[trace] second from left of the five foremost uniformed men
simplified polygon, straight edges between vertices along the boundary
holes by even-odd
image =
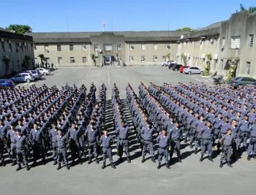
[[[67,170],[69,170],[69,163],[67,161],[67,135],[62,135],[61,129],[58,129],[58,135],[55,137],[55,142],[57,143],[58,152],[58,168],[61,169],[61,159],[64,158],[64,164]]]

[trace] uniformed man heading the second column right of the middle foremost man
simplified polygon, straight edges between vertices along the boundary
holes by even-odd
[[[146,161],[146,150],[149,150],[149,155],[151,156],[151,161],[156,162],[154,160],[154,144],[153,144],[153,134],[156,130],[151,126],[151,123],[148,121],[146,126],[143,126],[140,131],[141,137],[143,138],[143,151],[142,151],[142,163]]]

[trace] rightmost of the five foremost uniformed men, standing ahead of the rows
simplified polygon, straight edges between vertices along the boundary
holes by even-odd
[[[223,161],[226,159],[227,166],[232,167],[230,164],[230,158],[232,156],[232,144],[234,141],[233,135],[231,135],[231,129],[227,129],[227,134],[222,136],[221,139],[219,139],[219,142],[222,143],[222,154],[220,156],[220,164],[219,167],[223,167]]]

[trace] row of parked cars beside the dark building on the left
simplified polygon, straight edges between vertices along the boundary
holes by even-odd
[[[1,87],[15,87],[15,83],[29,83],[34,80],[40,80],[42,75],[50,74],[50,69],[38,68],[34,70],[26,70],[16,74],[14,77],[10,77],[10,79],[1,79],[0,86]]]

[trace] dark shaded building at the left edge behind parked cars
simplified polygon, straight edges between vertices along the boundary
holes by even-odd
[[[34,66],[33,37],[0,28],[0,77]]]

